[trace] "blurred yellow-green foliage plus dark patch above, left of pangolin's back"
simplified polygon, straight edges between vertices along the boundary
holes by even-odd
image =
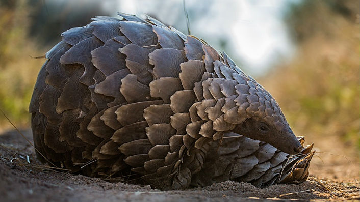
[[[44,55],[61,40],[60,33],[108,15],[101,1],[0,1],[0,109],[18,127],[29,127],[28,106]],[[81,4],[84,3],[84,4]],[[81,8],[80,8],[81,7]],[[2,114],[0,130],[11,127]]]

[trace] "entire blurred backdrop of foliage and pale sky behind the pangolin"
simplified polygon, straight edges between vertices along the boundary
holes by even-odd
[[[297,135],[331,153],[314,157],[313,172],[358,179],[360,1],[187,0],[186,9],[192,35],[224,50],[271,92]],[[45,62],[34,57],[67,29],[117,11],[145,13],[187,33],[182,0],[0,0],[0,108],[16,126],[29,128],[28,105]],[[0,133],[10,129],[1,115]]]

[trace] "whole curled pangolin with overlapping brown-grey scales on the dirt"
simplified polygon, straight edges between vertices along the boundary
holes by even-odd
[[[229,56],[119,16],[67,30],[46,53],[29,106],[38,158],[163,190],[306,180],[313,145]]]

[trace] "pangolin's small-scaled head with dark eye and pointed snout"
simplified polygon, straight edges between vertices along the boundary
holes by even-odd
[[[302,146],[277,102],[252,77],[245,76],[237,79],[240,82],[235,86],[239,96],[234,101],[240,119],[232,132],[265,141],[288,154],[299,153]]]

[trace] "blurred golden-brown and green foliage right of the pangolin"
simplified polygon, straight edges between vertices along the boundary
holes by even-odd
[[[359,1],[305,0],[285,15],[297,52],[261,83],[298,135],[360,146]]]

